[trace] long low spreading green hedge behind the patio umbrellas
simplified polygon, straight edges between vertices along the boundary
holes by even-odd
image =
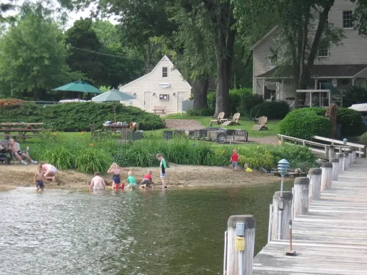
[[[97,126],[105,121],[114,120],[113,106],[117,106],[116,120],[138,122],[142,130],[163,128],[158,115],[150,114],[142,109],[119,103],[70,102],[54,105],[38,106],[24,103],[20,106],[0,108],[0,122],[43,122],[45,127],[56,131],[85,131],[90,124]]]

